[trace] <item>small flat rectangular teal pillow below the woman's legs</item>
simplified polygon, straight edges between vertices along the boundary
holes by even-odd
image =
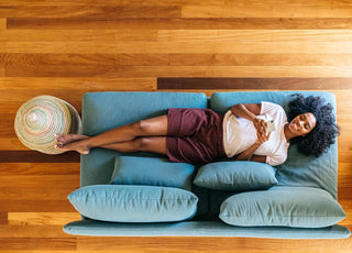
[[[161,157],[118,156],[112,185],[148,185],[191,189],[195,167]]]

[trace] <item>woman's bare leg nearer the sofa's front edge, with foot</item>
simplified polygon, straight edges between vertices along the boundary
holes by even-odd
[[[96,136],[76,135],[58,135],[56,136],[58,144],[56,148],[59,151],[77,151],[81,154],[88,154],[90,148],[116,144],[119,142],[129,142],[139,136],[165,136],[167,135],[167,116],[161,116],[148,120],[142,120],[135,123],[122,125]],[[59,140],[66,140],[66,143]],[[72,142],[67,141],[70,140]]]

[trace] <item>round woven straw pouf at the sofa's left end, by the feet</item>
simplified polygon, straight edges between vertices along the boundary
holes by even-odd
[[[14,119],[14,130],[23,145],[45,154],[59,154],[55,150],[55,133],[80,133],[81,121],[68,102],[38,96],[24,102]]]

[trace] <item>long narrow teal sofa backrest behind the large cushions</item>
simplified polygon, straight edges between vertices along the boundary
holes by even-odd
[[[195,237],[223,238],[272,238],[272,239],[345,239],[351,237],[348,228],[334,224],[321,229],[293,229],[286,227],[234,227],[221,221],[185,221],[177,223],[112,223],[96,220],[74,221],[64,227],[64,231],[75,235],[96,237],[190,237],[183,239],[195,243]],[[138,240],[138,239],[136,239]],[[157,239],[161,240],[161,239]],[[209,239],[201,239],[209,240]],[[217,239],[211,239],[216,241]],[[239,239],[242,241],[242,239]],[[173,241],[173,240],[172,240]],[[212,242],[211,242],[212,243]],[[284,243],[284,242],[282,242]],[[319,242],[312,242],[319,243]],[[332,243],[332,242],[331,242]],[[297,243],[299,244],[299,243]],[[208,244],[207,244],[208,245]],[[241,245],[239,245],[241,248]],[[243,248],[243,246],[242,246]],[[346,245],[348,248],[348,245]],[[204,249],[204,245],[201,246]],[[229,248],[230,249],[230,248]],[[298,250],[299,251],[299,250]],[[174,251],[172,251],[174,252]],[[175,251],[179,252],[179,251]],[[182,251],[185,252],[185,251]],[[198,251],[196,251],[198,252]],[[205,252],[205,251],[199,251]],[[212,251],[211,251],[212,252]],[[226,252],[237,252],[233,248]],[[252,251],[253,252],[253,251]]]

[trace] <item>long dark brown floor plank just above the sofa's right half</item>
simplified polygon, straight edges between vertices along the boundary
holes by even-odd
[[[157,78],[157,89],[351,89],[352,78]]]

